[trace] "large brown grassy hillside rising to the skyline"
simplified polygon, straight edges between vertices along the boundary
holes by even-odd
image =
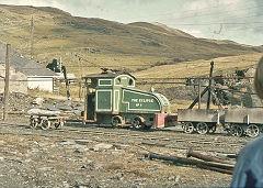
[[[196,38],[160,23],[122,24],[72,16],[54,8],[0,5],[0,40],[26,56],[32,15],[35,59],[47,64],[61,56],[69,70],[79,77],[98,71],[101,66],[141,70],[262,51],[228,41]]]

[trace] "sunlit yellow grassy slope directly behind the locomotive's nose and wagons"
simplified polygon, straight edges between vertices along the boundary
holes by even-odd
[[[187,77],[205,77],[209,75],[210,62],[214,60],[214,76],[216,75],[231,75],[236,70],[247,69],[258,64],[263,54],[253,53],[239,56],[218,57],[208,60],[198,59],[193,62],[182,62],[176,65],[161,65],[135,73],[134,76],[138,78],[139,82],[185,82],[185,79],[172,78],[187,78]],[[155,79],[150,79],[155,78]],[[158,90],[178,86],[178,84],[158,85],[142,85],[145,90],[150,90],[155,87]]]

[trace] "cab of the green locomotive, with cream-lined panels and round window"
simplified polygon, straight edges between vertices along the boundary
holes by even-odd
[[[135,87],[135,78],[129,74],[108,73],[92,74],[85,80],[84,122],[96,122],[98,113],[119,112],[119,88]]]

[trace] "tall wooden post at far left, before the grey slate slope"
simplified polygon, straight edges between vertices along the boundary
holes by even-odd
[[[5,121],[8,119],[10,51],[11,51],[11,44],[7,44],[4,98],[3,98],[3,121]]]

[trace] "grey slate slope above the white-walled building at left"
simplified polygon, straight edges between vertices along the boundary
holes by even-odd
[[[0,41],[0,64],[5,63],[7,44]],[[56,76],[44,65],[27,59],[15,49],[11,48],[10,66],[26,76]]]

